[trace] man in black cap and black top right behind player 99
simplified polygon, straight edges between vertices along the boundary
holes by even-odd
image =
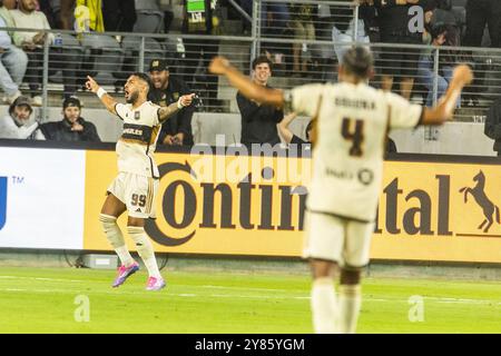
[[[170,76],[167,62],[163,59],[155,59],[150,62],[149,76],[155,87],[149,93],[149,99],[160,107],[168,107],[179,97],[193,92],[184,80]],[[194,112],[195,107],[189,106],[180,109],[165,121],[161,125],[158,142],[169,146],[193,146],[191,117]]]

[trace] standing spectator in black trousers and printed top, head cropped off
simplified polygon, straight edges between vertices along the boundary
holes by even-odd
[[[187,34],[214,34],[217,23],[214,17],[213,1],[203,0],[199,7],[188,7],[185,0],[183,32]],[[214,23],[213,23],[214,22]],[[208,111],[218,111],[217,76],[209,75],[208,65],[217,56],[219,41],[206,38],[184,39],[186,53],[185,81],[197,91]]]

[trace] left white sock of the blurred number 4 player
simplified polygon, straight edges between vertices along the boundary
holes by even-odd
[[[337,304],[332,278],[323,277],[313,281],[312,314],[316,334],[337,333]]]

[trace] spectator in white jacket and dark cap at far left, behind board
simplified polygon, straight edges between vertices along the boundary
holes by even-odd
[[[9,115],[0,120],[0,138],[43,140],[38,122],[31,117],[33,108],[27,97],[18,97],[9,107]]]

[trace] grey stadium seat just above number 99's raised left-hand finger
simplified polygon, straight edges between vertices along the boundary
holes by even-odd
[[[82,70],[94,76],[101,85],[111,85],[115,79],[111,72],[121,67],[124,49],[110,36],[85,34],[82,42]]]

